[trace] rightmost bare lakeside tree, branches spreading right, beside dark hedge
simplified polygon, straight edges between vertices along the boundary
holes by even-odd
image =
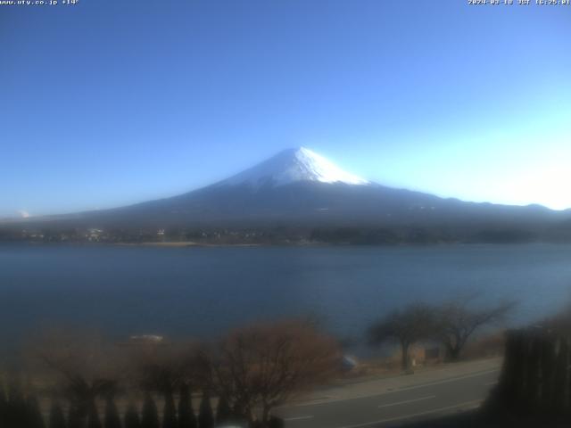
[[[437,309],[438,337],[446,348],[447,357],[457,360],[466,342],[477,329],[503,320],[514,307],[513,302],[502,302],[489,308],[474,309],[477,294],[451,300]]]

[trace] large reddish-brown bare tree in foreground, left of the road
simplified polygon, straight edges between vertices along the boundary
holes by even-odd
[[[212,386],[262,428],[273,408],[330,379],[339,357],[332,339],[298,321],[236,330],[208,356]]]

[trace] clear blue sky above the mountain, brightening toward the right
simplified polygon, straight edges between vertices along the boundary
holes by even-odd
[[[571,6],[467,3],[0,6],[0,217],[182,193],[298,145],[386,185],[571,207]]]

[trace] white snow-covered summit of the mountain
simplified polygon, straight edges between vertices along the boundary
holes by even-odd
[[[347,185],[368,185],[364,178],[343,171],[333,162],[305,147],[287,149],[230,177],[219,185],[261,186],[288,185],[299,181],[317,181],[321,183],[344,183]]]

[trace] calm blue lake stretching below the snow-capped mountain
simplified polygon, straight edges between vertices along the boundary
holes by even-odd
[[[512,324],[571,301],[570,245],[154,248],[0,245],[0,339],[50,326],[212,336],[317,317],[340,337],[411,301],[518,300]]]

